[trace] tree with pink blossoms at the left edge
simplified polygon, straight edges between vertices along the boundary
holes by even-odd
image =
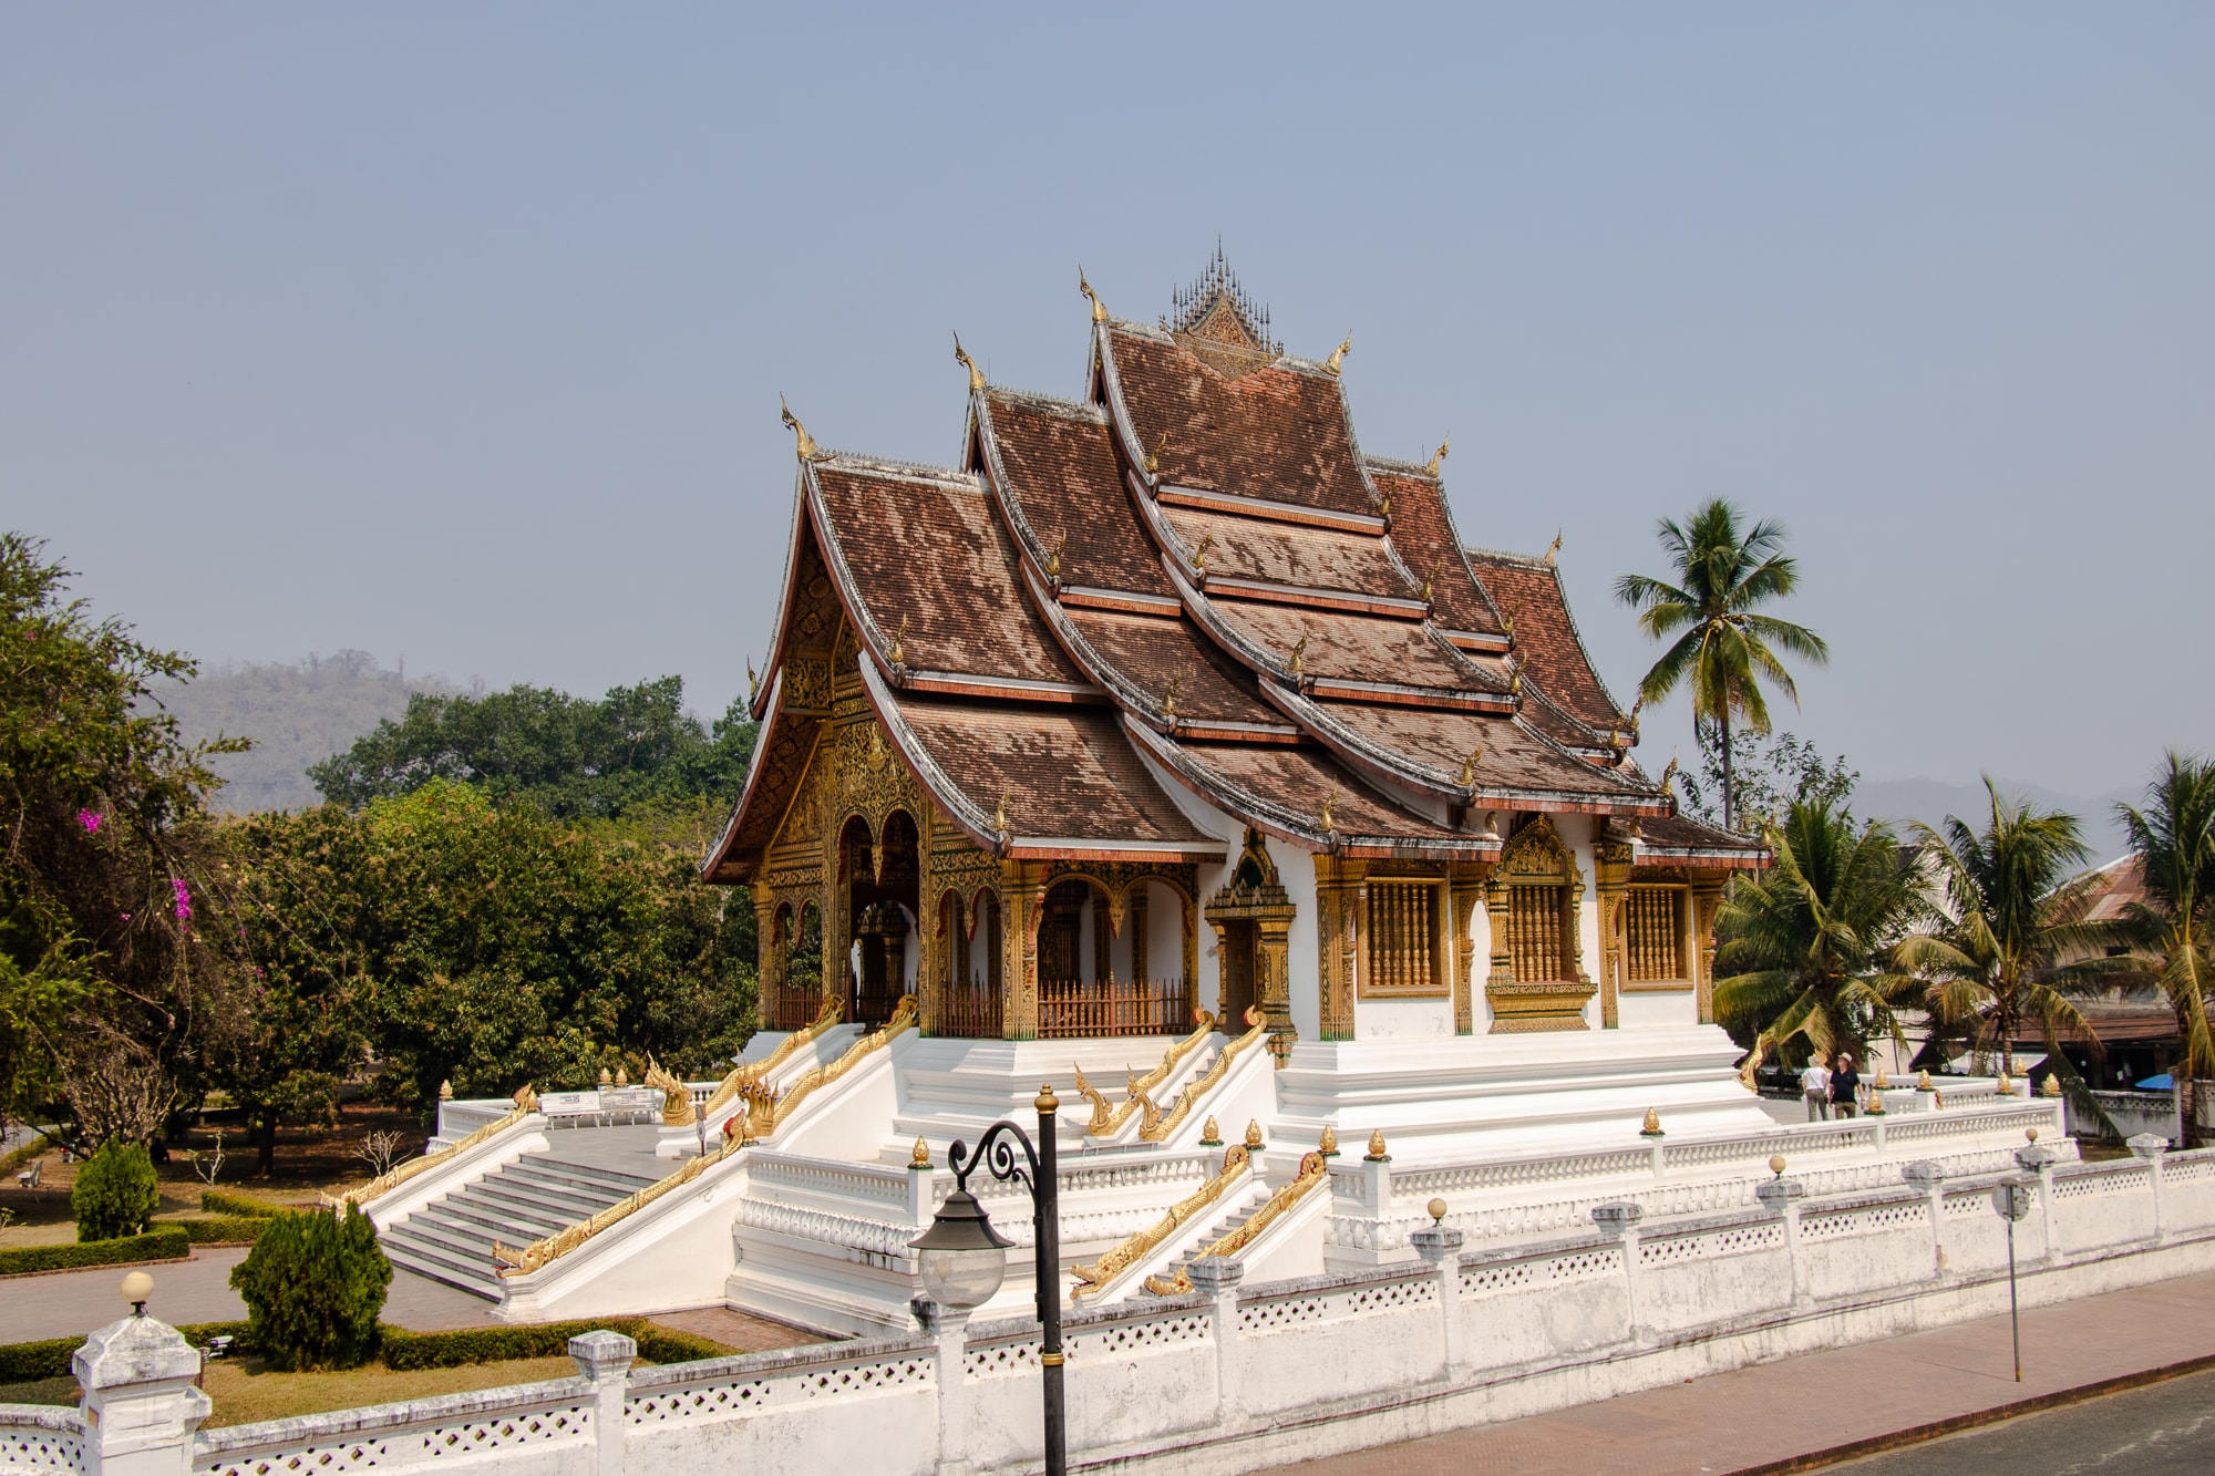
[[[235,982],[206,767],[151,700],[195,665],[93,618],[44,545],[0,534],[0,1106],[58,1110],[69,1062],[199,1077]]]

